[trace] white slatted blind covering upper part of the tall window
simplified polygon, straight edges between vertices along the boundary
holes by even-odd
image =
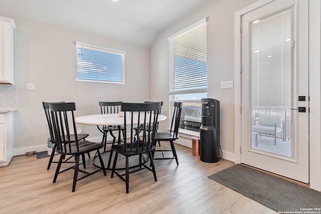
[[[170,95],[207,92],[206,19],[171,36]]]

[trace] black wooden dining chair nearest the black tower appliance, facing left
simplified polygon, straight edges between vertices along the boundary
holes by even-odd
[[[176,159],[176,163],[177,163],[177,165],[179,165],[174,141],[179,138],[179,127],[180,127],[182,106],[183,106],[182,102],[174,102],[174,112],[173,112],[173,118],[172,118],[170,132],[156,132],[155,133],[153,145],[155,145],[157,141],[158,142],[159,141],[170,141],[171,150],[169,150],[169,149],[155,150],[155,152],[161,151],[163,157],[154,158],[154,160]],[[164,151],[172,151],[174,157],[165,157]],[[153,155],[154,155],[154,153],[153,153]]]

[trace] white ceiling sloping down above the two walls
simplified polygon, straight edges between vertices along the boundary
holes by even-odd
[[[211,0],[0,0],[1,12],[149,47],[158,31]]]

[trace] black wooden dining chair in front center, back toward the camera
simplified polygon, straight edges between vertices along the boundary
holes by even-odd
[[[129,191],[129,174],[142,170],[148,169],[152,171],[154,175],[154,180],[157,181],[156,171],[154,167],[154,162],[152,158],[152,152],[155,150],[155,146],[152,144],[153,136],[155,134],[156,123],[158,119],[159,110],[161,109],[161,103],[123,103],[121,105],[121,110],[129,112],[128,117],[124,117],[124,143],[116,144],[111,146],[111,152],[108,161],[108,167],[110,166],[111,156],[113,151],[115,151],[114,162],[112,166],[111,177],[114,173],[126,182],[126,193]],[[140,139],[135,140],[135,135],[139,130],[135,130],[134,127],[142,127],[142,132]],[[151,128],[152,127],[152,128]],[[126,133],[130,133],[128,139]],[[118,154],[125,156],[125,173],[120,174],[115,171]],[[148,154],[150,160],[150,167],[146,165],[145,161],[142,161],[142,155]],[[128,158],[130,156],[139,155],[139,165],[138,168],[134,169],[129,167]],[[129,171],[129,168],[132,170]],[[123,177],[125,175],[125,178]]]

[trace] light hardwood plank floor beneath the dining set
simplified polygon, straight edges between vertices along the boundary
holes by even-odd
[[[176,149],[179,166],[175,160],[155,160],[157,182],[148,170],[130,174],[128,194],[110,171],[78,181],[72,192],[73,170],[52,183],[57,164],[47,170],[49,157],[14,157],[0,168],[0,213],[276,213],[208,178],[234,163],[205,163],[190,148]],[[93,169],[92,158],[86,158],[87,169]]]

